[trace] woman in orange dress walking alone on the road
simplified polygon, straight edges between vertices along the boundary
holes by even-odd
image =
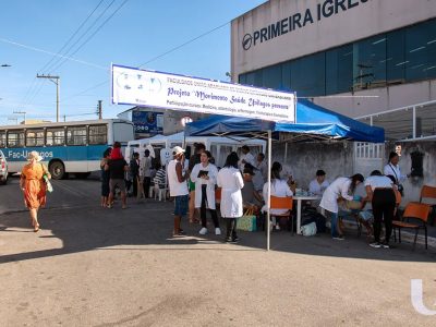
[[[51,175],[41,162],[43,158],[37,152],[32,152],[27,156],[27,164],[23,167],[20,178],[20,186],[24,193],[24,201],[26,207],[31,211],[32,226],[34,231],[39,230],[38,210],[41,206],[46,205],[47,185],[44,181],[44,175],[50,179]]]

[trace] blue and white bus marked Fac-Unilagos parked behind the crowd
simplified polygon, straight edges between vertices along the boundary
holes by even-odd
[[[0,148],[10,173],[20,172],[27,154],[36,150],[53,179],[65,178],[68,173],[88,177],[100,169],[108,146],[116,141],[126,145],[133,138],[133,123],[121,119],[0,126]]]

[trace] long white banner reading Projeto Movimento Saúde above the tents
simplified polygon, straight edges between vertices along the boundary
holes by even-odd
[[[112,65],[112,104],[295,122],[295,95]]]

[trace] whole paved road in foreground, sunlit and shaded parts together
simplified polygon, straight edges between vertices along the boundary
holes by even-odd
[[[1,326],[435,326],[436,250],[374,250],[350,231],[173,239],[171,203],[99,207],[97,180],[55,181],[43,230],[29,229],[17,180],[0,186]]]

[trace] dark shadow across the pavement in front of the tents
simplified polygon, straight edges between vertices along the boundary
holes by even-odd
[[[130,199],[129,208],[122,210],[117,204],[106,209],[96,203],[75,208],[43,209],[40,211],[41,230],[33,233],[27,213],[11,213],[0,219],[0,235],[35,238],[33,249],[38,249],[38,241],[59,239],[61,249],[35,250],[0,256],[0,264],[43,258],[49,256],[78,253],[84,251],[257,251],[264,253],[266,235],[264,232],[240,232],[239,244],[225,244],[223,234],[198,235],[199,226],[183,221],[186,237],[172,238],[172,203],[137,202]],[[209,222],[209,219],[208,219]],[[221,230],[223,232],[223,221]],[[211,231],[213,228],[209,227]],[[22,232],[28,231],[27,234]],[[50,244],[45,244],[47,247]],[[358,238],[350,230],[344,241],[334,241],[328,234],[313,238],[292,235],[288,231],[271,233],[271,251],[310,256],[331,256],[344,258],[396,261],[396,262],[435,262],[434,249],[425,251],[417,245],[412,252],[410,243],[393,244],[395,249],[372,249],[365,237]],[[4,253],[4,252],[3,252]]]

